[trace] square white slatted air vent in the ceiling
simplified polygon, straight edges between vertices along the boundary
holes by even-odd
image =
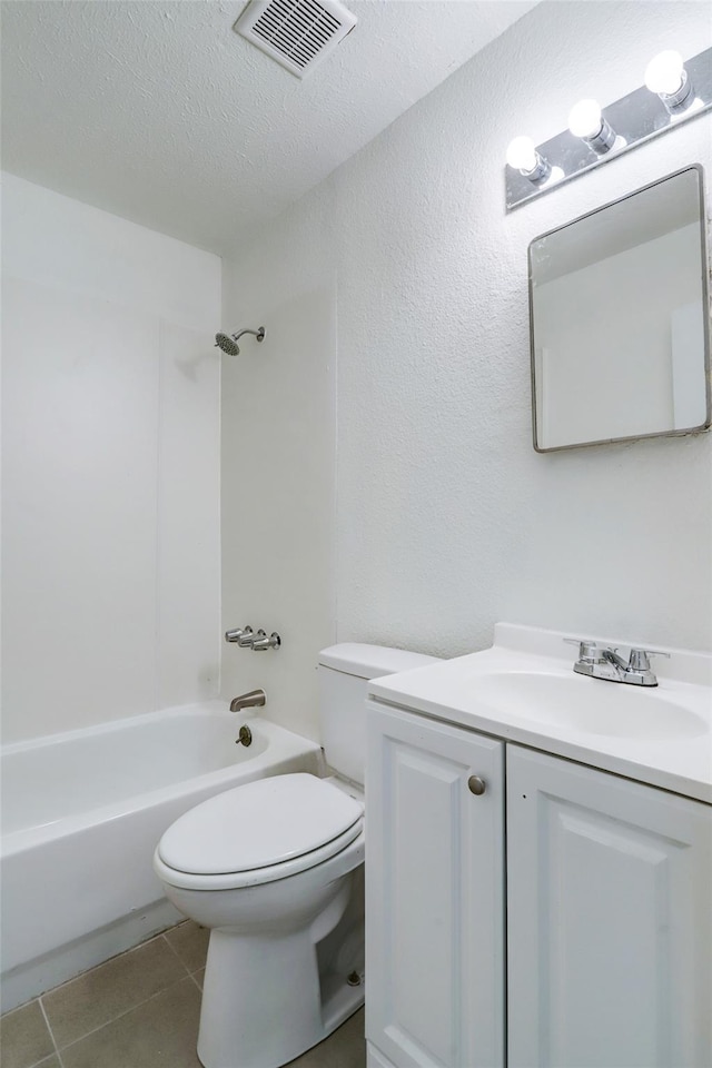
[[[234,29],[304,78],[356,22],[338,0],[253,0]]]

